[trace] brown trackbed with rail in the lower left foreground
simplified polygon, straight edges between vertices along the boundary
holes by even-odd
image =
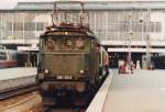
[[[2,100],[0,112],[42,112],[42,98],[33,91]]]

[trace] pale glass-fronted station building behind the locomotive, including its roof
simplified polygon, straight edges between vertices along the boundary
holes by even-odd
[[[53,8],[53,2],[19,2],[0,10],[0,44],[26,51],[37,47],[40,34],[52,24]],[[56,22],[65,21],[65,11],[68,22],[78,22],[79,9],[61,2]],[[85,11],[89,16],[85,22],[113,55],[165,52],[165,1],[90,1],[85,2]]]

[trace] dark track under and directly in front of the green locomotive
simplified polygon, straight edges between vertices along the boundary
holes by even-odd
[[[101,87],[101,85],[103,83],[106,78],[107,78],[107,76],[103,78],[99,88]],[[95,93],[97,93],[99,88],[95,91]],[[50,102],[46,104],[44,104],[44,102],[43,102],[43,112],[86,112],[86,109],[88,108],[88,105],[91,102],[91,100],[94,99],[94,97],[95,97],[95,94],[92,94],[92,96],[88,94],[88,96],[86,96],[86,98],[80,98],[80,99],[74,98],[75,100],[72,100],[70,99],[72,97],[69,98],[69,96],[68,96],[68,97],[66,97],[65,100],[56,99],[54,102]],[[69,100],[67,100],[67,98]]]

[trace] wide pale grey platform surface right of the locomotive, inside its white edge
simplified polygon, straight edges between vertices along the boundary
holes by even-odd
[[[165,112],[165,70],[114,70],[102,112]]]

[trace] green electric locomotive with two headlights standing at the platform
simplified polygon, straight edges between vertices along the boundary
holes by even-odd
[[[108,75],[108,53],[82,24],[48,26],[40,36],[37,80],[44,99],[87,96]]]

